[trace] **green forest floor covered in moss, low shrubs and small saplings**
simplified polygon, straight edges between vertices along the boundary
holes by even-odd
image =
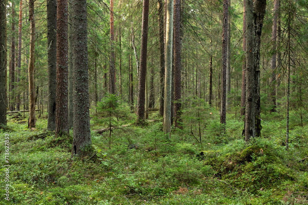
[[[8,116],[7,129],[0,133],[0,204],[308,203],[308,159],[303,160],[308,125],[298,122],[298,112],[291,112],[286,151],[284,113],[262,114],[262,137],[245,144],[238,109],[228,112],[224,134],[214,108],[184,109],[183,129],[170,137],[162,132],[157,112],[149,115],[156,121],[139,127],[133,124],[135,114],[127,106],[121,109],[112,123],[132,125],[113,129],[110,137],[91,132],[97,154],[83,158],[71,158],[72,130],[69,138],[46,130],[46,113],[34,130],[27,128],[27,118]],[[106,116],[91,116],[91,129],[105,128],[102,120]],[[4,195],[7,164],[9,201]]]

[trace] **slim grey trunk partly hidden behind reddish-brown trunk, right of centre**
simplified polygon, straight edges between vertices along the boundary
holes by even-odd
[[[228,6],[228,10],[231,9],[231,0],[229,1],[229,6]],[[226,109],[229,109],[230,107],[230,103],[231,103],[231,99],[230,97],[228,97],[228,95],[230,95],[231,93],[231,24],[230,24],[230,12],[228,12],[228,40],[227,40],[227,81],[226,81],[226,85],[227,85],[227,98],[226,98]]]

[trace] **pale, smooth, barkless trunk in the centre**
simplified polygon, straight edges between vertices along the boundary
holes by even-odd
[[[173,0],[167,0],[166,47],[165,47],[165,90],[164,90],[164,132],[171,132],[171,77],[172,77],[172,34]],[[170,134],[169,134],[170,135]]]

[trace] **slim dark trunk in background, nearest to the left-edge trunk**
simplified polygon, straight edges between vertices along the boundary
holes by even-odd
[[[11,44],[11,89],[10,89],[10,111],[15,109],[15,11],[12,1],[12,44]]]

